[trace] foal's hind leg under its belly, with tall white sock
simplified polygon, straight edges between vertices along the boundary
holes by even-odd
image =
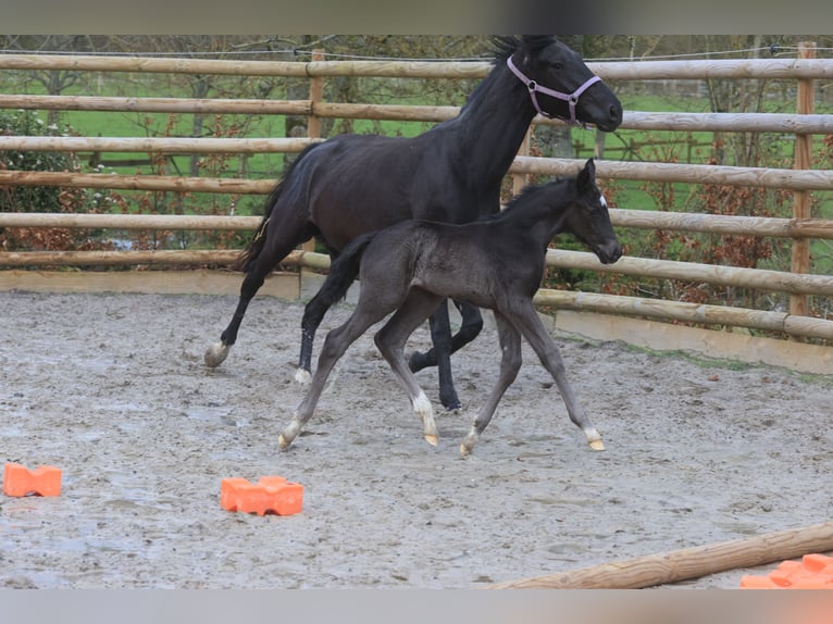
[[[408,367],[405,359],[405,342],[413,330],[425,322],[432,311],[436,310],[437,303],[442,300],[442,297],[427,290],[412,288],[396,314],[374,336],[376,347],[408,392],[413,411],[422,420],[423,436],[432,446],[437,445],[438,437],[434,410],[416,382],[415,375]]]

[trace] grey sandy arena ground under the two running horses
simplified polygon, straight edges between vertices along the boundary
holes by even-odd
[[[831,386],[785,370],[557,336],[607,450],[524,366],[474,454],[496,335],[455,355],[459,413],[422,439],[372,332],[304,435],[277,433],[302,307],[257,299],[217,370],[236,298],[0,294],[0,461],[64,471],[58,498],[0,496],[0,587],[477,587],[833,517]],[[349,308],[331,312],[324,333]],[[322,339],[319,339],[320,346]],[[411,340],[424,348],[428,335]],[[303,513],[223,511],[220,481],[283,475]],[[686,584],[737,587],[741,571]]]

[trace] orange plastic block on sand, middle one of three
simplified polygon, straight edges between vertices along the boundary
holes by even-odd
[[[220,483],[220,506],[227,511],[263,515],[300,513],[303,486],[282,476],[262,476],[258,483],[245,478],[224,478]]]

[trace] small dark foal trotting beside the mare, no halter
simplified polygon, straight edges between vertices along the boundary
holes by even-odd
[[[312,416],[330,372],[347,348],[394,311],[375,335],[376,347],[408,391],[425,439],[436,445],[434,412],[407,365],[405,341],[440,301],[452,298],[495,312],[501,348],[498,380],[460,445],[463,457],[472,451],[518,375],[521,336],[556,380],[570,420],[584,432],[590,448],[602,450],[601,437],[567,380],[558,347],[532,304],[549,241],[561,232],[574,234],[606,264],[622,255],[595,183],[593,160],[575,178],[527,187],[497,216],[463,225],[406,221],[353,239],[331,266],[310,305],[326,309],[335,303],[357,275],[359,302],[347,323],[327,334],[310,389],[281,434],[281,448],[287,448]]]

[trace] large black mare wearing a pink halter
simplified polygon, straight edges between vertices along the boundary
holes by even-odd
[[[563,91],[563,92],[562,92]],[[263,221],[244,251],[246,277],[221,341],[206,364],[225,360],[249,301],[265,276],[298,245],[315,236],[331,258],[360,234],[410,219],[465,223],[500,210],[500,184],[536,113],[613,130],[622,105],[582,58],[555,37],[496,39],[496,66],[460,114],[413,138],[341,135],[303,150],[266,201]],[[456,303],[462,315],[451,337],[448,309],[431,317],[434,348],[414,353],[411,370],[438,365],[439,399],[460,401],[450,354],[473,340],[480,311]],[[299,380],[309,380],[312,340],[324,311],[304,313]]]

